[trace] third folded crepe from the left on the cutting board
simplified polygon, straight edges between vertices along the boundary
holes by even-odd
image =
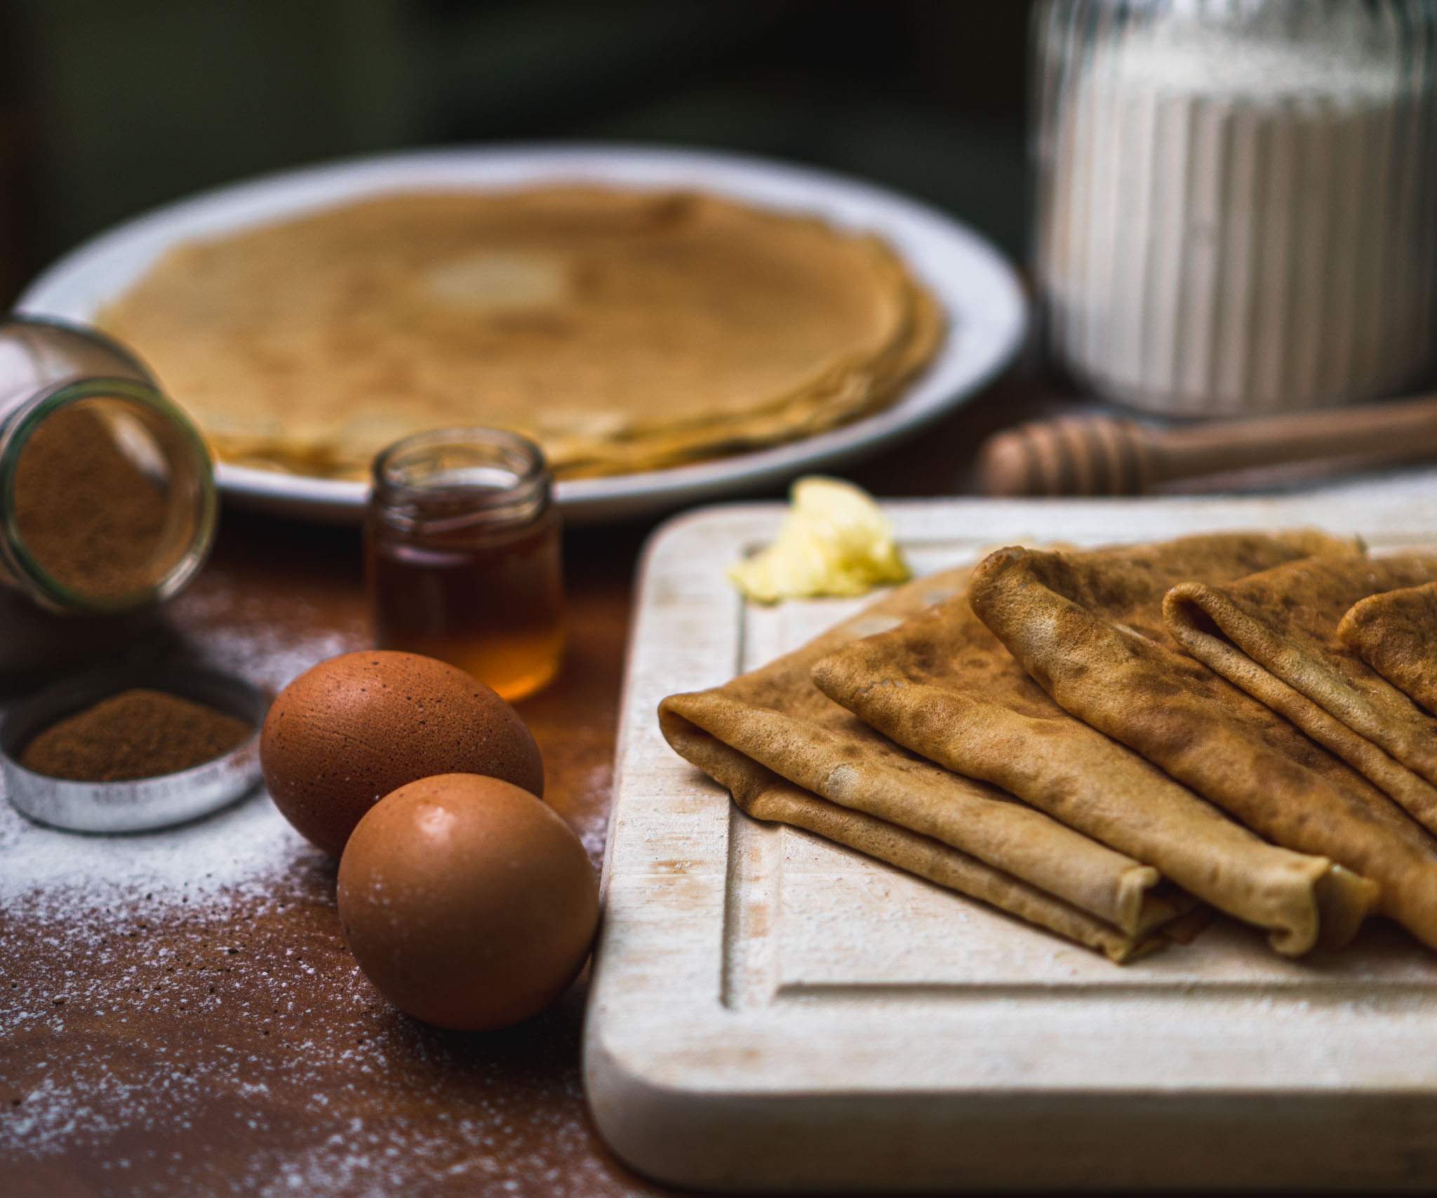
[[[1332,548],[1312,535],[1313,552]],[[1437,946],[1437,840],[1382,791],[1171,640],[1141,562],[1000,549],[974,613],[1065,710],[1266,838],[1381,886],[1378,909]]]

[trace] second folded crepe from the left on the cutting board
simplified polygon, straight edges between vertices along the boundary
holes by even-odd
[[[1194,571],[1224,580],[1315,548],[1326,547],[1306,535],[1217,535],[1082,557],[1124,570],[1155,601]],[[1375,902],[1374,883],[1326,857],[1265,843],[1059,708],[973,614],[966,594],[823,657],[813,680],[898,744],[1003,787],[1150,861],[1219,910],[1269,929],[1279,952],[1300,955],[1319,936],[1328,946],[1345,943]]]

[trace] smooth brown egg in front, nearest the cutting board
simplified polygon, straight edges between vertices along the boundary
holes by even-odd
[[[359,968],[438,1027],[507,1027],[547,1007],[589,955],[598,918],[579,837],[497,778],[401,787],[339,861],[339,920]]]

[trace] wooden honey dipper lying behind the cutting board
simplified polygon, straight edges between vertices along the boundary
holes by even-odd
[[[1180,429],[1112,416],[1036,420],[990,436],[977,479],[984,495],[1138,495],[1262,466],[1428,456],[1437,456],[1437,395]]]

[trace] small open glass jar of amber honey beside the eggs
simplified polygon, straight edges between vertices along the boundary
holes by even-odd
[[[533,442],[443,429],[374,463],[365,572],[379,649],[468,670],[504,699],[563,656],[563,562],[553,477]]]

